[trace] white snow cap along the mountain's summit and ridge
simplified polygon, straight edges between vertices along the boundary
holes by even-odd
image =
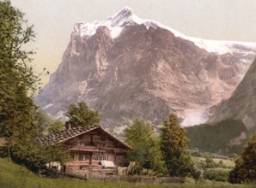
[[[256,53],[256,44],[255,43],[244,43],[244,42],[234,42],[234,41],[213,41],[213,40],[205,40],[202,38],[192,38],[187,37],[186,35],[175,31],[174,29],[163,26],[161,23],[150,20],[143,20],[137,15],[135,15],[131,8],[125,7],[124,9],[120,9],[119,12],[114,15],[108,16],[105,21],[94,21],[93,23],[85,23],[83,21],[77,22],[74,26],[75,36],[79,36],[81,38],[87,36],[93,36],[96,33],[96,30],[99,26],[107,26],[107,29],[110,32],[111,37],[118,38],[120,33],[123,31],[125,26],[131,26],[134,24],[144,25],[149,29],[152,27],[156,29],[157,27],[161,27],[167,29],[170,32],[173,32],[175,37],[180,37],[189,41],[192,41],[196,44],[200,49],[207,50],[209,52],[214,52],[216,54],[225,54],[225,53],[233,53],[234,45],[242,45],[246,46],[248,49],[248,53]]]

